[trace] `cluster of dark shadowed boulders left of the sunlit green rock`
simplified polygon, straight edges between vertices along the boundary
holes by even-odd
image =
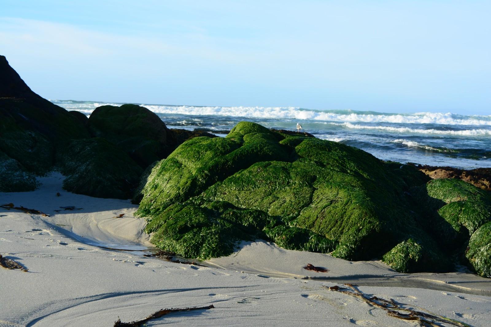
[[[4,56],[0,76],[0,167],[8,167],[18,180],[15,186],[2,186],[5,190],[31,190],[35,175],[60,169],[68,174],[69,191],[128,199],[151,163],[189,138],[213,136],[170,131],[156,114],[135,104],[102,106],[90,119],[69,112],[35,94]]]

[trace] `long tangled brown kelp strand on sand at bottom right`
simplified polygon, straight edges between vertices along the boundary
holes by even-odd
[[[385,300],[378,298],[376,296],[368,297],[363,292],[356,288],[356,285],[353,284],[344,284],[347,288],[339,287],[337,285],[327,287],[331,291],[341,292],[344,294],[348,294],[354,297],[361,299],[364,302],[372,306],[376,306],[387,311],[387,315],[403,320],[411,320],[417,321],[420,326],[436,326],[442,327],[441,324],[447,324],[450,326],[456,327],[471,327],[463,322],[446,318],[443,316],[438,316],[436,314],[430,314],[422,311],[414,311],[411,309],[406,309],[406,307],[410,307],[409,304],[406,303],[397,303],[393,299]]]

